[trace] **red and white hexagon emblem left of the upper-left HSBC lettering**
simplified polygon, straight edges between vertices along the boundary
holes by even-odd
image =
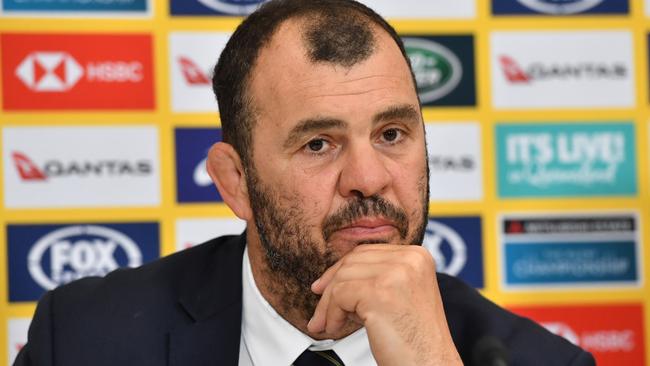
[[[16,69],[16,76],[35,91],[54,92],[72,88],[83,68],[66,52],[33,52]]]

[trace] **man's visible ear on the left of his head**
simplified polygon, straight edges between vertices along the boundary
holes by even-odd
[[[242,220],[252,219],[246,176],[232,145],[217,142],[208,152],[207,169],[224,202]]]

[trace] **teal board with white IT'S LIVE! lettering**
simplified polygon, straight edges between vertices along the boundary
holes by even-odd
[[[632,123],[499,124],[499,196],[621,196],[637,192]]]

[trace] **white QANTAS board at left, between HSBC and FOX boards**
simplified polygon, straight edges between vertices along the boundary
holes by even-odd
[[[8,208],[160,203],[156,127],[5,127],[2,149]]]

